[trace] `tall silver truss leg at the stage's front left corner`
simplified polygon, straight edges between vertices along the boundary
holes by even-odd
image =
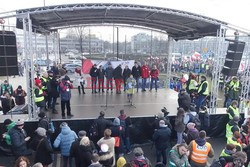
[[[26,85],[28,97],[29,120],[37,117],[35,112],[35,103],[33,96],[34,87],[34,64],[33,64],[33,40],[32,40],[32,22],[29,14],[22,18],[23,20],[23,37],[24,37],[24,55],[26,65]]]

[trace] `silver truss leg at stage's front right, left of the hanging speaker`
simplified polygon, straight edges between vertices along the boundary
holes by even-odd
[[[215,114],[218,100],[219,78],[221,74],[222,64],[225,61],[225,35],[226,28],[220,26],[217,30],[216,37],[216,52],[214,56],[214,64],[212,70],[212,82],[211,82],[211,98],[209,112]]]

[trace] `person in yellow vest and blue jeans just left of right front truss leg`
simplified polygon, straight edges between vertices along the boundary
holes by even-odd
[[[196,110],[199,112],[202,106],[205,106],[204,102],[206,97],[209,95],[209,85],[207,82],[207,78],[205,76],[201,76],[201,84],[198,85],[198,97],[196,99]]]

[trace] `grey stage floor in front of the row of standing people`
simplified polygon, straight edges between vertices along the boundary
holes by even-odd
[[[107,108],[106,105],[107,98]],[[135,93],[133,104],[136,107],[129,106],[126,93],[92,94],[91,90],[86,90],[86,94],[79,95],[77,90],[72,91],[71,110],[74,117],[71,119],[93,119],[99,116],[100,111],[105,111],[106,117],[117,117],[119,111],[124,109],[127,116],[146,117],[156,115],[163,107],[166,107],[170,115],[175,115],[177,110],[178,93],[171,89],[160,89]],[[60,99],[58,99],[60,100]],[[58,114],[48,116],[52,119],[61,119],[60,105],[57,105]]]

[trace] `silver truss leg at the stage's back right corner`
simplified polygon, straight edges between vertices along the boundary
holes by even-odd
[[[170,88],[170,80],[171,80],[171,67],[172,67],[172,49],[173,49],[173,38],[168,36],[167,43],[167,78],[166,78],[166,88]]]

